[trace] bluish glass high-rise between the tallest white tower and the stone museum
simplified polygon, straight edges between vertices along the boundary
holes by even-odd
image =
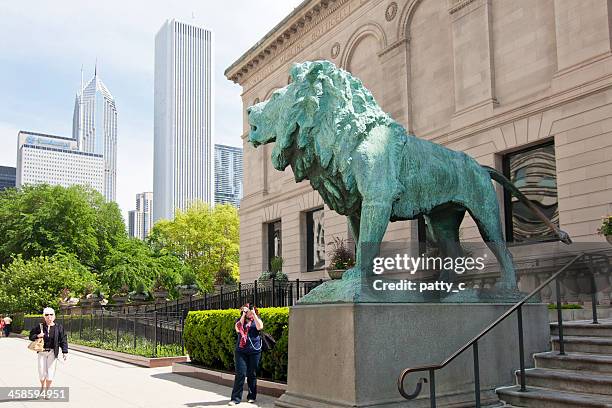
[[[240,207],[242,198],[242,149],[215,145],[215,204]]]

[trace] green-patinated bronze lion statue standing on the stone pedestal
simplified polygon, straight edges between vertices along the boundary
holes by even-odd
[[[516,288],[491,180],[537,208],[512,183],[463,152],[408,134],[359,79],[329,61],[295,64],[290,75],[289,85],[247,109],[248,140],[254,147],[276,142],[274,167],[291,166],[296,181],[310,180],[331,209],[348,217],[357,262],[343,279],[371,273],[375,254],[362,244],[380,245],[389,221],[423,215],[428,234],[452,255],[468,211],[502,267],[498,286]]]

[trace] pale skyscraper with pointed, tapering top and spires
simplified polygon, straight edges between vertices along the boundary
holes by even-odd
[[[117,192],[117,107],[115,98],[96,70],[74,102],[72,137],[80,151],[104,157],[104,188],[107,201],[115,201]]]

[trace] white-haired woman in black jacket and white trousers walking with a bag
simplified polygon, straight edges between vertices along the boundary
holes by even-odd
[[[64,327],[55,322],[55,311],[46,307],[43,310],[43,322],[30,330],[30,340],[44,339],[44,350],[38,352],[38,377],[40,379],[41,395],[48,395],[45,391],[51,388],[55,376],[59,349],[66,360],[68,354],[68,339]]]

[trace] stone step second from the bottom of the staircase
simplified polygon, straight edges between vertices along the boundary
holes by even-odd
[[[549,388],[612,397],[612,375],[571,370],[530,368],[525,370],[528,387]],[[519,371],[516,372],[517,384]]]

